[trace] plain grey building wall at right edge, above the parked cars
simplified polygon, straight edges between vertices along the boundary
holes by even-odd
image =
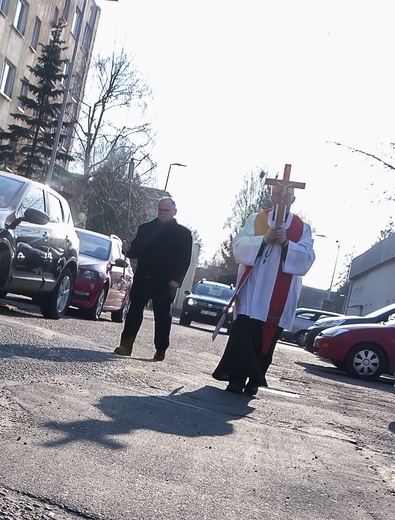
[[[346,314],[365,316],[395,302],[395,233],[354,258]]]

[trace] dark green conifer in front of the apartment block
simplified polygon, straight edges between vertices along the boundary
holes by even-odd
[[[10,124],[7,132],[0,132],[0,165],[24,177],[42,181],[52,154],[64,93],[61,82],[66,78],[63,68],[67,59],[61,57],[66,49],[61,39],[63,27],[61,20],[53,25],[49,43],[40,44],[42,53],[37,64],[28,67],[37,82],[22,80],[26,95],[20,95],[18,99],[23,112],[11,114],[21,124]],[[63,123],[62,128],[65,130],[71,125]],[[61,134],[60,140],[65,136],[65,133]],[[73,160],[61,150],[56,158]]]

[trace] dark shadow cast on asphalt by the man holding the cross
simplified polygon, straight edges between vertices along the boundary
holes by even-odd
[[[168,396],[104,396],[95,406],[108,419],[47,422],[43,426],[61,437],[46,442],[44,446],[57,447],[78,442],[126,449],[133,442],[130,436],[138,430],[186,438],[221,437],[232,434],[233,424],[230,421],[243,419],[254,411],[246,396],[227,394],[211,386],[178,393],[181,389],[175,389]],[[218,400],[218,397],[221,399]],[[128,435],[128,442],[117,440],[119,435]]]

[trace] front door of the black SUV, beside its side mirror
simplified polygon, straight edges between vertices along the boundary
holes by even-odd
[[[23,197],[18,214],[28,208],[45,211],[45,191],[33,186]],[[34,292],[42,285],[42,271],[48,260],[48,233],[45,225],[21,222],[15,228],[15,255],[9,291],[28,289]]]

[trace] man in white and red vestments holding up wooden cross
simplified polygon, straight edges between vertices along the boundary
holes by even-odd
[[[233,240],[239,264],[234,322],[224,354],[213,372],[228,381],[227,391],[255,395],[268,386],[266,371],[284,329],[291,329],[302,289],[302,276],[315,254],[311,228],[293,215],[291,165],[283,179],[267,179],[272,186],[271,209],[254,213]]]

